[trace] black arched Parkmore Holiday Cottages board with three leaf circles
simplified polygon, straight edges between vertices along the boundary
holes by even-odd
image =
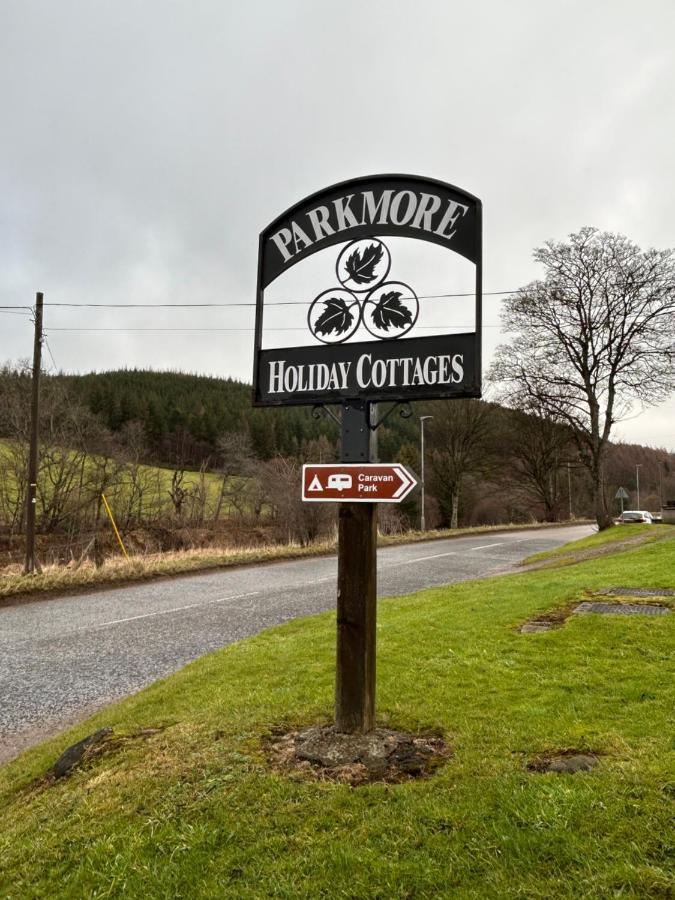
[[[481,213],[477,197],[450,184],[374,175],[312,194],[275,219],[260,235],[254,405],[480,397]],[[415,333],[420,300],[390,276],[387,236],[428,241],[474,264],[474,331]],[[317,285],[308,298],[303,345],[263,348],[265,291],[331,246],[339,286]]]

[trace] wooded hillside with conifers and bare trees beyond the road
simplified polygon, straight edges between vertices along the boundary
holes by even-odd
[[[389,404],[377,415],[385,416]],[[568,427],[477,400],[394,409],[378,430],[379,458],[419,476],[420,415],[426,422],[426,519],[437,525],[556,521],[592,511],[582,449]],[[303,462],[337,459],[339,428],[309,408],[253,409],[251,388],[231,379],[120,370],[44,376],[41,381],[38,524],[46,534],[89,534],[100,496],[112,498],[127,529],[262,528],[276,539],[313,540],[334,509],[302,504]],[[21,534],[25,508],[30,373],[0,370],[0,530]],[[148,465],[164,466],[165,475]],[[675,497],[675,454],[614,444],[604,487],[615,513],[619,486],[642,508]],[[207,476],[208,481],[207,484]],[[215,480],[213,480],[215,479]],[[383,527],[419,522],[419,495],[382,509]],[[245,528],[244,528],[245,526]]]

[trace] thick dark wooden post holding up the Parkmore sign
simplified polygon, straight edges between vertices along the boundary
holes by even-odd
[[[342,407],[342,461],[374,462],[371,404]],[[338,515],[335,727],[363,734],[375,727],[377,503],[341,503]]]

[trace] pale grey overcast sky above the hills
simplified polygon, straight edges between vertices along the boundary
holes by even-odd
[[[254,304],[260,231],[379,172],[481,198],[486,292],[585,225],[673,247],[674,34],[672,0],[0,0],[0,305]],[[420,254],[396,257],[418,293],[465,282]],[[309,303],[307,273],[276,289]],[[250,381],[253,320],[47,305],[45,364]],[[0,361],[31,353],[28,312],[0,314]],[[675,450],[675,400],[613,436]]]

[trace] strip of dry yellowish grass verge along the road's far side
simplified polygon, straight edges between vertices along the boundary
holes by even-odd
[[[559,525],[560,523],[558,523]],[[577,523],[578,524],[578,523]],[[381,535],[380,546],[408,544],[418,541],[443,540],[487,532],[520,531],[542,528],[533,525],[481,525],[473,528],[439,529],[437,531],[407,531],[401,534]],[[148,553],[108,560],[101,568],[91,562],[79,569],[63,565],[44,566],[41,575],[22,575],[23,566],[14,564],[0,571],[0,603],[22,596],[55,594],[70,590],[88,590],[131,581],[144,581],[171,575],[184,575],[207,569],[228,566],[251,565],[282,559],[300,559],[335,553],[336,539],[317,541],[308,546],[300,544],[270,544],[264,547],[212,547],[197,550],[175,550],[164,553]]]

